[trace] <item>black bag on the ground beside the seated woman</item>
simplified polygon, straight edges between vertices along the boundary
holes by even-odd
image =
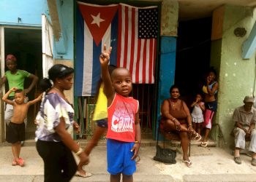
[[[164,162],[165,164],[176,164],[176,151],[172,149],[162,149],[157,145],[157,153],[153,158],[156,161]]]

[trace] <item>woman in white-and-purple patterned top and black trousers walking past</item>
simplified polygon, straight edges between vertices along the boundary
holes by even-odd
[[[37,151],[45,165],[45,182],[71,180],[78,170],[71,151],[80,157],[83,165],[89,162],[70,135],[73,125],[78,129],[78,124],[74,122],[74,109],[64,90],[72,88],[73,72],[73,68],[56,64],[48,71],[49,79],[40,82],[45,92],[36,118],[36,138]]]

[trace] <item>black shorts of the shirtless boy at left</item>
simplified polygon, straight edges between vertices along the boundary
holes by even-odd
[[[6,140],[9,143],[17,143],[18,141],[25,141],[25,123],[16,124],[10,122],[7,126]]]

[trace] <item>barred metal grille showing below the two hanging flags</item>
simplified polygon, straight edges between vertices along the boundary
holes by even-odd
[[[133,84],[131,96],[140,103],[140,127],[142,134],[152,133],[152,117],[154,102],[154,84]],[[95,123],[92,122],[94,112],[94,97],[76,97],[75,98],[75,119],[80,124],[79,138],[91,138],[93,135]],[[78,137],[78,136],[75,136]],[[104,137],[103,137],[104,138]]]

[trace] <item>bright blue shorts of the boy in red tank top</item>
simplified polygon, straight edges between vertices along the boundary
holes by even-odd
[[[117,175],[132,175],[136,171],[136,162],[132,160],[134,151],[131,151],[134,142],[122,142],[112,139],[107,141],[108,173]]]

